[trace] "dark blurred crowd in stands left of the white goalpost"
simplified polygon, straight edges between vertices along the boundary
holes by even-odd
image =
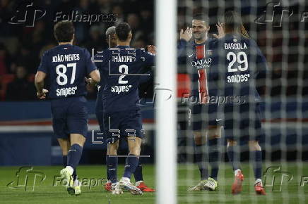
[[[55,16],[59,12],[68,15],[71,11],[85,15],[111,14],[116,18],[114,21],[101,18],[94,23],[74,23],[76,28],[74,44],[83,46],[89,51],[106,49],[105,31],[108,27],[123,21],[129,23],[132,28],[131,46],[140,48],[153,44],[153,1],[34,0],[31,1],[35,6],[33,8],[46,10],[43,18],[37,19],[33,27],[8,24],[8,20],[17,15],[17,10],[21,10],[20,13],[24,11],[27,2],[0,0],[0,100],[2,101],[35,99],[33,75],[40,63],[42,52],[57,45],[53,36],[53,26]],[[95,91],[89,97],[94,98]]]

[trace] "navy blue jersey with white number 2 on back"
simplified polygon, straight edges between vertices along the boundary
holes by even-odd
[[[95,60],[102,60],[96,65],[105,80],[102,89],[104,112],[138,110],[142,69],[154,64],[154,56],[144,49],[117,46],[95,56]]]

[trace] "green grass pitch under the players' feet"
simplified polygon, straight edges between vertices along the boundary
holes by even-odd
[[[307,163],[266,163],[264,166],[280,166],[281,171],[289,172],[293,178],[291,181],[283,181],[281,191],[272,191],[271,187],[266,187],[266,196],[256,196],[253,189],[253,172],[249,169],[248,164],[244,164],[242,166],[245,176],[244,190],[240,195],[232,196],[230,186],[233,181],[233,174],[230,166],[227,163],[222,163],[218,178],[219,191],[190,193],[186,189],[199,181],[199,171],[196,165],[179,165],[177,175],[178,203],[308,203],[308,183],[300,186],[302,176],[308,177]],[[59,184],[53,186],[54,176],[57,176],[59,170],[61,170],[59,166],[33,167],[32,171],[43,172],[46,175],[46,179],[41,181],[42,177],[37,177],[35,187],[32,189],[33,174],[29,173],[28,191],[25,191],[25,187],[22,186],[25,184],[24,172],[19,174],[19,183],[16,183],[16,172],[18,169],[19,167],[0,167],[0,203],[155,203],[155,193],[143,193],[143,196],[132,196],[130,193],[124,192],[123,195],[114,196],[106,192],[100,184],[91,186],[90,189],[88,185],[90,179],[92,179],[92,184],[95,184],[95,181],[98,182],[99,179],[105,177],[105,166],[91,165],[78,167],[78,177],[84,178],[83,184],[85,185],[82,187],[81,196],[69,196],[63,186]],[[122,171],[123,165],[120,165],[119,177]],[[155,186],[154,172],[153,165],[143,165],[144,179],[150,187]],[[15,182],[8,185],[11,181]]]

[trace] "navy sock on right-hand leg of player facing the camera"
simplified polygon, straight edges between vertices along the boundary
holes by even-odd
[[[208,162],[211,165],[211,178],[217,181],[220,162],[220,138],[208,140]]]

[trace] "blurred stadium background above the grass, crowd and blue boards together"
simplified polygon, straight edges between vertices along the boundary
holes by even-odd
[[[42,51],[56,45],[52,27],[54,13],[71,10],[80,13],[112,13],[117,21],[99,23],[75,23],[76,45],[83,46],[89,51],[99,51],[107,48],[105,30],[111,25],[126,21],[134,34],[131,46],[145,47],[154,44],[153,1],[109,1],[109,0],[81,0],[81,1],[33,1],[35,6],[46,9],[44,18],[37,20],[34,27],[24,25],[10,25],[6,23],[16,14],[16,7],[21,1],[1,0],[1,32],[0,32],[0,165],[53,165],[61,162],[61,153],[57,141],[52,139],[50,127],[50,110],[47,101],[37,101],[33,85],[34,74],[40,63]],[[189,26],[191,15],[206,12],[210,16],[211,30],[216,32],[215,23],[218,20],[218,4],[223,1],[178,1],[178,30]],[[226,1],[227,2],[227,1]],[[256,39],[266,59],[269,72],[258,81],[259,91],[266,102],[263,106],[266,119],[266,155],[270,160],[307,160],[308,129],[306,112],[308,103],[307,65],[307,23],[300,23],[300,11],[308,11],[295,3],[288,6],[293,11],[288,25],[262,25],[251,23],[266,11],[266,4],[272,1],[258,1],[249,4],[247,1],[228,1],[226,8],[233,8],[234,2],[241,7],[244,25],[253,39]],[[230,4],[231,3],[231,4]],[[210,6],[208,6],[210,5]],[[211,9],[209,9],[211,7]],[[283,7],[275,8],[276,16],[281,16]],[[283,18],[283,20],[285,20]],[[279,21],[278,21],[279,23]],[[285,29],[287,27],[287,29]],[[304,34],[304,36],[302,36]],[[287,47],[289,51],[284,51]],[[302,52],[304,49],[304,52]],[[186,161],[187,143],[186,110],[180,103],[182,93],[188,91],[189,79],[186,66],[178,66],[178,98],[179,98],[179,162]],[[140,88],[141,105],[143,108],[143,122],[147,131],[145,150],[153,155],[153,79]],[[95,89],[89,89],[88,99],[90,108],[90,130],[98,129],[94,115]],[[39,140],[42,142],[38,142]],[[33,143],[35,141],[35,143]],[[264,145],[265,140],[262,141]],[[40,145],[37,145],[40,144]],[[20,148],[22,147],[22,148]],[[299,148],[300,147],[300,148]],[[37,155],[41,150],[46,157]],[[8,151],[9,150],[9,151]],[[13,151],[14,150],[14,151]],[[123,152],[124,153],[124,152]],[[102,145],[91,144],[90,132],[83,163],[101,163]],[[18,155],[26,155],[25,158]],[[49,159],[47,159],[49,158]],[[148,159],[153,162],[153,157]]]

